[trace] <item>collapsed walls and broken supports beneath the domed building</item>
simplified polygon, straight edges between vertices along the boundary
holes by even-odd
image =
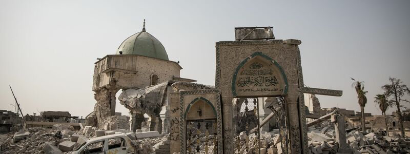
[[[115,105],[115,94],[120,89],[115,83],[95,90],[97,103],[94,111],[87,115],[86,125],[105,130],[141,129],[145,121],[144,114],[149,115],[148,130],[168,133],[168,95],[179,90],[210,89],[212,86],[190,82],[166,81],[151,86],[122,89],[118,100],[130,110],[130,121],[124,121],[112,115],[112,104]],[[115,108],[115,106],[114,106]],[[115,110],[114,110],[115,111]]]

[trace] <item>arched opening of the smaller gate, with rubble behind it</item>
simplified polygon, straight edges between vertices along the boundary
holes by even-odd
[[[215,107],[207,99],[198,98],[188,105],[184,117],[187,153],[218,153]]]

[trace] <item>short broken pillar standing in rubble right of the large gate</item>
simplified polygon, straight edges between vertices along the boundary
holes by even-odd
[[[331,122],[335,123],[336,142],[339,143],[339,153],[351,153],[346,143],[346,128],[344,126],[343,115],[340,113],[333,114]]]

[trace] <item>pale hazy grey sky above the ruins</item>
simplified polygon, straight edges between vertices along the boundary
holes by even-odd
[[[180,61],[182,78],[214,85],[215,42],[234,41],[234,27],[273,26],[276,39],[302,41],[307,86],[343,90],[342,97],[318,96],[322,108],[360,111],[352,77],[365,82],[365,111],[381,114],[373,101],[388,77],[410,85],[409,7],[410,1],[0,0],[0,109],[13,110],[11,85],[24,114],[87,115],[96,102],[96,58],[115,54],[145,18],[147,32]]]

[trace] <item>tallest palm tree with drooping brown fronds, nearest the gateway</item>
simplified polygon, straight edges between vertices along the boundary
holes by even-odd
[[[351,78],[353,81],[352,87],[354,87],[356,89],[356,93],[357,93],[357,100],[360,106],[360,112],[362,114],[362,131],[366,131],[366,123],[364,122],[364,106],[367,103],[367,98],[366,98],[366,93],[367,91],[364,91],[364,82],[359,82],[356,81],[355,79]]]

